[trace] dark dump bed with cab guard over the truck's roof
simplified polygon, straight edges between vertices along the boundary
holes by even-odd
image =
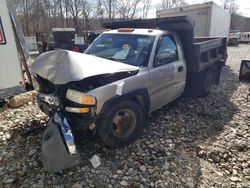
[[[226,61],[226,38],[194,38],[194,22],[189,16],[137,19],[130,21],[106,22],[107,29],[157,28],[178,34],[189,73],[198,73],[207,67]]]

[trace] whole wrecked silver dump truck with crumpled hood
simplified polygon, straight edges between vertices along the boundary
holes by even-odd
[[[102,33],[85,54],[47,52],[32,65],[40,84],[38,105],[51,116],[43,138],[47,170],[79,160],[76,129],[97,132],[106,145],[123,146],[138,138],[149,113],[183,93],[205,97],[219,82],[227,40],[194,39],[189,17],[104,26],[113,30]]]

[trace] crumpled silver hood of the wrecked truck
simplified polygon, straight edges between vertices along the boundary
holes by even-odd
[[[55,50],[41,54],[31,69],[53,84],[66,84],[101,74],[137,71],[139,67],[78,52]]]

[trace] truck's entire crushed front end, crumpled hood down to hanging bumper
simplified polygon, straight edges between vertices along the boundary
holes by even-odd
[[[57,172],[80,161],[74,132],[96,130],[98,101],[89,91],[133,76],[139,67],[55,50],[42,53],[31,65],[31,70],[39,85],[37,104],[50,117],[43,135],[43,165],[46,171]],[[116,90],[116,86],[113,88]],[[109,96],[110,93],[102,94]],[[103,100],[101,98],[99,96],[98,100]]]

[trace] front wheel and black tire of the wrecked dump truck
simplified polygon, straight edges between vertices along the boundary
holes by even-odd
[[[136,102],[115,105],[98,126],[97,133],[111,147],[121,147],[136,140],[144,127],[145,116]]]

